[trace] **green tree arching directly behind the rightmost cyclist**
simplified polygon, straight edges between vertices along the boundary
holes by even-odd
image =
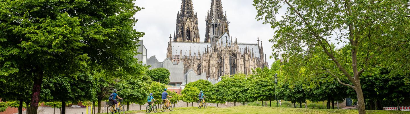
[[[204,96],[207,98],[205,99],[206,102],[208,103],[224,103],[225,101],[221,102],[216,99],[216,94],[215,94],[215,86],[209,82],[208,80],[197,80],[195,82],[191,82],[187,84],[185,87],[196,87],[199,89],[199,91],[203,91]],[[198,98],[199,92],[196,93],[196,96]]]

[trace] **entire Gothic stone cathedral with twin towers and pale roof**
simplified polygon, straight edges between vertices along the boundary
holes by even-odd
[[[252,69],[267,67],[259,38],[257,43],[239,43],[230,36],[221,0],[212,0],[205,21],[205,41],[200,41],[198,16],[192,0],[182,0],[176,30],[173,37],[169,37],[166,57],[174,64],[183,63],[184,73],[205,73],[206,79],[217,80],[223,75],[251,74]]]

